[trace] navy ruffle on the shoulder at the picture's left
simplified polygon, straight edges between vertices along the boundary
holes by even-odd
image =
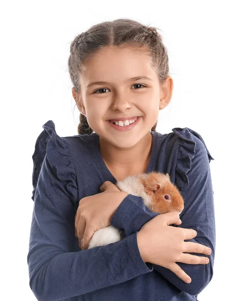
[[[38,178],[41,172],[45,156],[54,172],[62,181],[68,181],[65,185],[76,186],[76,173],[71,158],[68,142],[65,138],[57,135],[55,124],[52,120],[47,121],[43,126],[44,130],[38,136],[33,159],[32,174],[32,200],[34,201]]]

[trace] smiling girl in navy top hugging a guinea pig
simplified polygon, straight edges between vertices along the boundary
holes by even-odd
[[[37,138],[31,289],[45,301],[197,300],[213,276],[214,159],[190,128],[156,131],[173,90],[161,36],[128,19],[97,24],[71,43],[68,67],[80,124],[60,137],[49,120]],[[114,185],[151,171],[177,185],[181,219]],[[123,239],[87,249],[109,224]]]

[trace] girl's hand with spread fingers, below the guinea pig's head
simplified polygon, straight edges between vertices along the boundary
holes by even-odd
[[[184,240],[196,237],[196,231],[171,227],[171,224],[181,224],[177,212],[160,214],[151,219],[138,232],[138,247],[144,262],[164,266],[186,283],[190,283],[191,278],[176,262],[207,264],[207,257],[187,253],[210,255],[211,249],[196,242],[185,242]]]

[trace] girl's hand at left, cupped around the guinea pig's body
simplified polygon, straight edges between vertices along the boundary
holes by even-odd
[[[82,198],[75,215],[75,236],[82,250],[88,248],[95,231],[110,225],[119,204],[129,194],[106,181],[100,187],[102,193]]]

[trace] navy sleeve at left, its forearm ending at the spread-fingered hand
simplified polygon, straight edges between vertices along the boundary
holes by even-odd
[[[83,295],[153,270],[140,255],[137,232],[103,247],[73,251],[78,249],[74,177],[69,170],[51,166],[45,156],[33,198],[27,257],[30,287],[38,300]]]

